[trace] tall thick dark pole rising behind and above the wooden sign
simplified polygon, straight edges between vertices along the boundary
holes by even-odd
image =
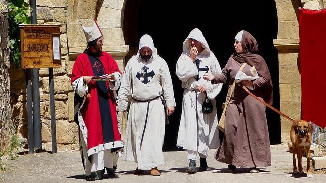
[[[32,7],[32,24],[37,24],[36,0],[30,0]],[[32,69],[33,76],[33,122],[34,122],[34,145],[37,149],[42,147],[41,123],[40,123],[40,102],[39,102],[39,79],[38,69]]]

